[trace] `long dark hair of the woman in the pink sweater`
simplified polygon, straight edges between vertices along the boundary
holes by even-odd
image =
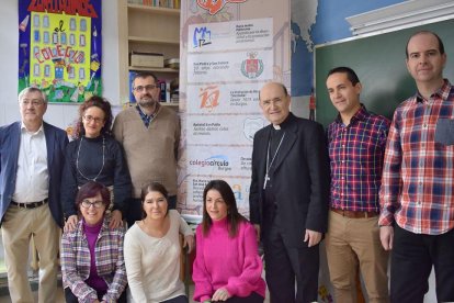
[[[209,181],[205,190],[203,191],[203,218],[202,218],[202,229],[203,234],[207,235],[209,228],[213,225],[213,221],[206,211],[206,194],[209,190],[216,190],[223,197],[224,202],[227,205],[227,226],[228,235],[232,238],[238,234],[238,225],[241,222],[247,221],[239,212],[237,207],[237,201],[235,199],[234,191],[230,186],[224,180],[212,180]]]

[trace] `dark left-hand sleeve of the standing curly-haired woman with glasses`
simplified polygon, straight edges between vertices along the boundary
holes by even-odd
[[[78,190],[76,167],[72,164],[76,152],[76,142],[68,144],[65,150],[65,164],[61,173],[61,206],[66,217],[76,215],[76,194]]]

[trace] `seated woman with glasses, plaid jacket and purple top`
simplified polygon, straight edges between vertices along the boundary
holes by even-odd
[[[76,197],[81,214],[72,232],[61,238],[61,276],[66,302],[126,302],[122,226],[109,228],[109,190],[84,183]]]

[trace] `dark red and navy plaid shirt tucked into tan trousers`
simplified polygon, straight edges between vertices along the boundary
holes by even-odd
[[[389,121],[364,105],[345,126],[340,116],[328,126],[331,206],[379,212],[378,190]]]

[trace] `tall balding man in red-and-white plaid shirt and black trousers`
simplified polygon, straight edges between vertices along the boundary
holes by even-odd
[[[454,302],[454,87],[436,34],[413,34],[406,54],[418,91],[394,113],[379,194],[390,298],[422,302],[433,266],[438,301]]]

